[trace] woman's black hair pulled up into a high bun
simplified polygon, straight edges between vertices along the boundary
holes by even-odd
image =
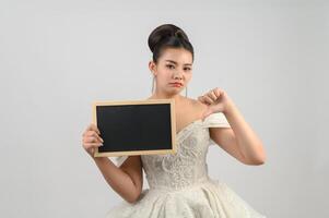
[[[174,24],[163,24],[157,26],[149,36],[149,47],[153,52],[153,61],[157,63],[162,51],[165,48],[184,48],[191,52],[195,60],[193,47],[185,32]]]

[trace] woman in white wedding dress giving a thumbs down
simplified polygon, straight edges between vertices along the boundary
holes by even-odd
[[[83,147],[95,160],[107,183],[125,201],[110,208],[108,218],[145,217],[265,217],[224,182],[208,175],[208,146],[216,144],[245,165],[261,165],[266,154],[228,95],[213,88],[197,100],[180,95],[192,77],[193,47],[185,32],[173,25],[156,27],[149,36],[153,60],[149,68],[156,88],[148,99],[175,99],[177,153],[122,156],[117,165],[94,158],[102,146],[98,129],[83,133]],[[150,189],[142,190],[146,173]]]

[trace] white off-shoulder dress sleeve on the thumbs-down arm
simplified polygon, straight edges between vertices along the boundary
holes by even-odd
[[[231,128],[231,125],[223,112],[215,112],[204,119],[203,128]],[[209,137],[209,145],[216,145],[216,143]]]

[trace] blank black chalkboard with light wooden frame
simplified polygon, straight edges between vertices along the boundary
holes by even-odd
[[[94,157],[176,153],[174,99],[93,102],[103,146]]]

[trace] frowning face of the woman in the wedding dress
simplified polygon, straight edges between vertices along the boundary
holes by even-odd
[[[149,66],[155,75],[157,92],[168,95],[179,94],[192,77],[192,55],[183,48],[166,48],[157,64],[151,61]]]

